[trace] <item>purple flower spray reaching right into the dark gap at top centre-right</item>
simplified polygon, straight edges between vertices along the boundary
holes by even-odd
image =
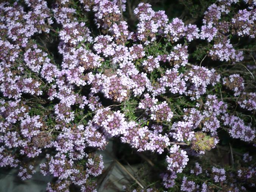
[[[199,38],[199,29],[195,25],[184,26],[182,20],[175,18],[171,23],[164,11],[153,11],[148,3],[139,3],[134,14],[139,20],[137,24],[137,39],[149,44],[156,40],[156,33],[165,36],[172,42],[177,42],[181,37],[187,36],[188,41]]]

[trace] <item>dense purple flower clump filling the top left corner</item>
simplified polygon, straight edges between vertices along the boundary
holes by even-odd
[[[22,6],[14,3],[1,3],[0,8],[5,12],[4,25],[7,36],[17,45],[26,47],[28,39],[35,33],[45,31],[49,33],[53,20],[50,16],[50,9],[44,0],[27,0],[31,11],[25,12]]]

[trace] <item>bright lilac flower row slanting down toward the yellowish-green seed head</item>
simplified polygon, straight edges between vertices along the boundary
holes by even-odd
[[[110,108],[98,109],[92,123],[94,127],[98,125],[97,129],[99,130],[101,127],[103,133],[109,136],[121,135],[122,142],[130,144],[131,147],[137,148],[138,151],[151,150],[161,154],[170,145],[167,136],[162,136],[158,131],[148,130],[147,126],[140,127],[134,121],[126,122],[124,114],[120,113],[120,111],[112,112]],[[89,136],[90,134],[87,135]],[[104,148],[106,144],[104,136],[98,133],[98,136],[95,135],[93,137],[98,137],[98,141],[91,146]]]

